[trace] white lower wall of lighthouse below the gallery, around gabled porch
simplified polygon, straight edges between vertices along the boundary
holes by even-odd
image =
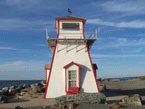
[[[67,48],[66,45],[57,45],[46,98],[55,98],[61,95],[66,95],[65,69],[63,67],[72,61],[82,66],[80,71],[81,93],[98,92],[85,46],[86,45],[79,45],[76,47],[76,45],[70,45]],[[62,48],[64,49],[58,51]],[[77,49],[80,51],[77,51]]]

